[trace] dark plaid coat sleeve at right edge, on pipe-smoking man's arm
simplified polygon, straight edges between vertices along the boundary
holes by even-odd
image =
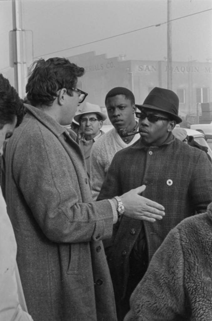
[[[212,200],[212,164],[204,151],[199,154],[193,168],[189,194],[192,198],[191,204],[194,206],[194,211],[205,212]]]

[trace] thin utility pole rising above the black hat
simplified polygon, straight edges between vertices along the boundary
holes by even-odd
[[[171,0],[167,0],[167,88],[172,90],[172,22]]]

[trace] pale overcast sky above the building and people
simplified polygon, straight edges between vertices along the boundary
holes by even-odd
[[[126,59],[164,60],[167,56],[167,0],[24,0],[22,8],[23,27],[31,30],[28,37],[33,34],[34,57],[67,57],[89,51],[107,57],[124,54]],[[209,9],[212,0],[171,1],[171,19],[207,10],[172,22],[173,61],[212,59]],[[0,26],[0,72],[7,74],[8,35],[13,29],[10,0],[0,1]],[[84,45],[141,28],[145,29]]]

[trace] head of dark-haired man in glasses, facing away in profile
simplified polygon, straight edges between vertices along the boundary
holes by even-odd
[[[43,109],[59,124],[68,125],[77,106],[87,96],[78,82],[78,77],[84,72],[83,67],[65,58],[39,59],[31,67],[26,85],[27,99],[32,106]]]

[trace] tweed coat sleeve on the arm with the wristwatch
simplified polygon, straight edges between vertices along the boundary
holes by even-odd
[[[72,163],[58,138],[52,135],[45,138],[40,135],[34,143],[23,139],[21,142],[13,160],[19,193],[16,197],[22,200],[24,210],[32,213],[46,237],[54,242],[72,243],[110,238],[113,230],[110,202],[82,202],[82,195],[87,193],[90,198],[91,192],[79,155],[77,159],[72,157]],[[8,152],[7,157],[10,156]]]

